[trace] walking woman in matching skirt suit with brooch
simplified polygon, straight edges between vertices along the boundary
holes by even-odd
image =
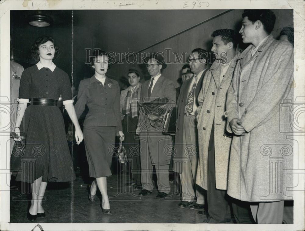
[[[97,52],[91,59],[95,74],[80,82],[75,110],[79,118],[87,104],[89,111],[84,121],[84,142],[89,164],[89,175],[94,177],[89,193],[89,200],[94,201],[97,186],[102,194],[102,212],[110,214],[106,177],[110,171],[112,147],[115,136],[124,140],[120,115],[120,86],[117,81],[109,79],[108,56]]]

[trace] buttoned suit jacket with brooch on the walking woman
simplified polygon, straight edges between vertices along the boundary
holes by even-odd
[[[77,118],[81,116],[87,104],[89,111],[84,126],[114,126],[116,132],[122,131],[120,114],[119,83],[106,76],[105,84],[93,75],[80,82],[75,111]]]

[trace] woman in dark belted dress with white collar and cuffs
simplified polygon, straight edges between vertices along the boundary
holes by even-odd
[[[27,213],[30,221],[45,216],[41,203],[48,181],[75,179],[63,116],[57,107],[60,95],[75,126],[77,144],[83,140],[73,107],[69,76],[52,62],[57,54],[52,37],[39,37],[32,45],[32,55],[39,62],[25,69],[20,80],[15,124],[19,138],[15,140],[21,140],[20,131],[26,140],[16,180],[31,183],[32,200]]]

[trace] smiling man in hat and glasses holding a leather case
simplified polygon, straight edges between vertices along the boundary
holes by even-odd
[[[136,130],[142,149],[142,191],[139,194],[145,196],[152,193],[152,171],[155,166],[159,191],[157,198],[164,198],[170,192],[168,170],[173,143],[170,135],[163,134],[163,127],[168,110],[175,106],[176,90],[174,82],[161,74],[166,64],[160,53],[150,55],[146,67],[151,78],[142,85]],[[161,106],[149,106],[157,101],[162,102]]]

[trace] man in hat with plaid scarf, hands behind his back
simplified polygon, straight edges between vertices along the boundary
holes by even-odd
[[[125,134],[124,146],[127,151],[127,158],[131,160],[127,163],[127,170],[131,177],[131,182],[127,182],[127,185],[141,187],[140,143],[135,130],[138,124],[142,74],[137,68],[131,67],[125,76],[127,76],[130,86],[121,91],[120,108]]]

